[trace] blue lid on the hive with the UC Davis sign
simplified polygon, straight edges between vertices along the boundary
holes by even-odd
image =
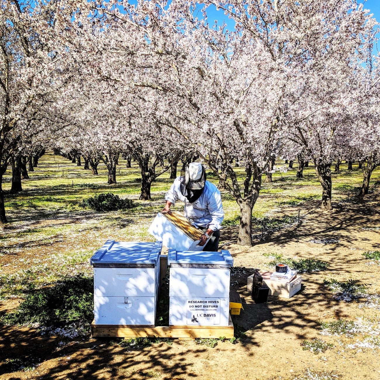
[[[233,266],[234,260],[228,250],[211,251],[177,251],[169,250],[168,264],[220,264]]]

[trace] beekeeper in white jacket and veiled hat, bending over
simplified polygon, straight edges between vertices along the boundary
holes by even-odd
[[[217,187],[206,180],[206,170],[200,162],[186,166],[185,175],[174,180],[165,200],[162,212],[170,212],[170,206],[178,200],[184,202],[185,216],[204,232],[199,245],[207,242],[203,250],[217,252],[224,218],[222,198]]]

